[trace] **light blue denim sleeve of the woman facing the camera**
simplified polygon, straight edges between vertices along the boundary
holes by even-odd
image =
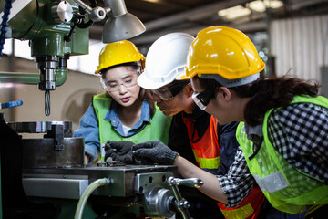
[[[90,157],[89,163],[95,162],[100,148],[100,141],[97,118],[91,105],[81,118],[80,124],[77,130],[74,131],[73,136],[85,139],[85,153]]]

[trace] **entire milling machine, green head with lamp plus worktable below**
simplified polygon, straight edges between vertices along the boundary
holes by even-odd
[[[3,72],[0,82],[31,84],[37,80],[38,89],[45,91],[46,115],[50,114],[50,91],[65,83],[67,59],[88,53],[88,27],[93,22],[108,17],[104,43],[145,31],[138,18],[128,13],[124,0],[104,0],[104,8],[95,0],[90,2],[6,0],[0,5],[1,50],[5,38],[29,40],[39,69],[38,78]],[[36,137],[40,134],[42,138]],[[84,140],[72,138],[69,121],[5,122],[0,114],[0,138],[0,218],[73,218],[72,208],[75,218],[112,218],[117,207],[131,206],[142,206],[149,218],[170,218],[178,211],[190,218],[189,203],[181,197],[178,185],[202,184],[199,179],[177,178],[174,166],[115,161],[85,166]],[[95,207],[101,215],[93,212]],[[108,208],[111,211],[105,214]]]

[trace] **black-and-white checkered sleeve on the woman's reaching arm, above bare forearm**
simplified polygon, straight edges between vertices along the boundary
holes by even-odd
[[[236,151],[235,161],[231,164],[226,175],[217,175],[223,192],[227,195],[227,207],[235,207],[251,193],[255,183],[241,151],[241,146]]]

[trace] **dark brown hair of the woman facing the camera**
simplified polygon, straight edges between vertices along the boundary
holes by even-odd
[[[125,68],[132,68],[133,70],[136,70],[138,72],[138,75],[140,74],[140,72],[142,70],[142,67],[139,66],[137,63],[124,63],[124,64],[121,64],[119,66],[124,66]],[[114,67],[118,67],[118,66],[114,66]],[[103,79],[105,79],[106,74],[104,74],[104,73],[106,73],[108,71],[108,69],[114,68],[114,67],[109,67],[109,68],[102,69],[100,71],[101,77]],[[108,96],[108,98],[110,98],[110,95],[108,94],[108,91],[105,91],[105,92],[106,92],[106,95]],[[140,92],[139,92],[138,98],[142,99],[142,100],[145,99],[148,102],[149,111],[150,111],[150,118],[153,118],[154,113],[155,113],[155,103],[152,100],[150,90],[143,89],[142,87],[140,87]],[[112,99],[112,101],[110,103],[110,109],[112,109],[116,104],[118,104],[118,103],[115,101],[115,99]]]

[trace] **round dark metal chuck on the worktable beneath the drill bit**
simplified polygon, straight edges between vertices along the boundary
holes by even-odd
[[[23,168],[84,167],[84,138],[72,137],[71,121],[7,122],[17,133],[45,133],[22,138]]]

